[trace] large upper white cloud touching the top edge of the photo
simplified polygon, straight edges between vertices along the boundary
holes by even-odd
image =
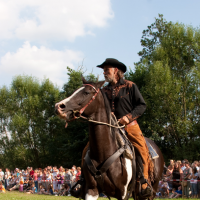
[[[0,37],[73,41],[105,27],[110,0],[0,0]]]

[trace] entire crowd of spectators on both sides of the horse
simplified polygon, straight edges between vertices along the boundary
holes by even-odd
[[[0,169],[0,192],[19,190],[29,194],[70,196],[70,190],[80,176],[81,168],[76,166],[71,169],[47,166],[34,170],[27,167],[25,170],[16,168],[14,171],[6,168],[5,172]],[[169,166],[164,166],[156,196],[200,198],[200,161],[190,164],[186,159],[170,160]]]

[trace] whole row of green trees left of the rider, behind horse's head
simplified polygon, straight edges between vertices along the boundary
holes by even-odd
[[[0,88],[0,167],[81,164],[87,122],[76,120],[65,129],[54,113],[55,103],[82,86],[81,69],[67,69],[69,81],[62,92],[48,79],[40,82],[32,76],[17,76],[10,88]],[[92,73],[85,78],[97,81]]]

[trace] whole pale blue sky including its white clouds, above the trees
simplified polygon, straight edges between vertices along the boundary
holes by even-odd
[[[199,0],[0,0],[0,87],[16,75],[49,78],[60,88],[66,66],[85,74],[106,58],[134,69],[142,31],[158,13],[200,24]]]

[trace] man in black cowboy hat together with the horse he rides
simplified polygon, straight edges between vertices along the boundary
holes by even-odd
[[[83,85],[55,104],[55,112],[66,121],[65,127],[77,118],[89,122],[89,142],[82,154],[84,177],[77,182],[82,187],[80,190],[72,188],[71,194],[97,200],[99,194],[104,193],[127,200],[132,193],[134,199],[152,200],[162,176],[164,158],[158,146],[143,137],[137,124],[136,119],[146,109],[144,99],[133,82],[123,79],[126,72],[123,63],[108,58],[97,67],[104,70],[109,83],[106,87],[101,89],[105,81],[88,82],[82,77]]]

